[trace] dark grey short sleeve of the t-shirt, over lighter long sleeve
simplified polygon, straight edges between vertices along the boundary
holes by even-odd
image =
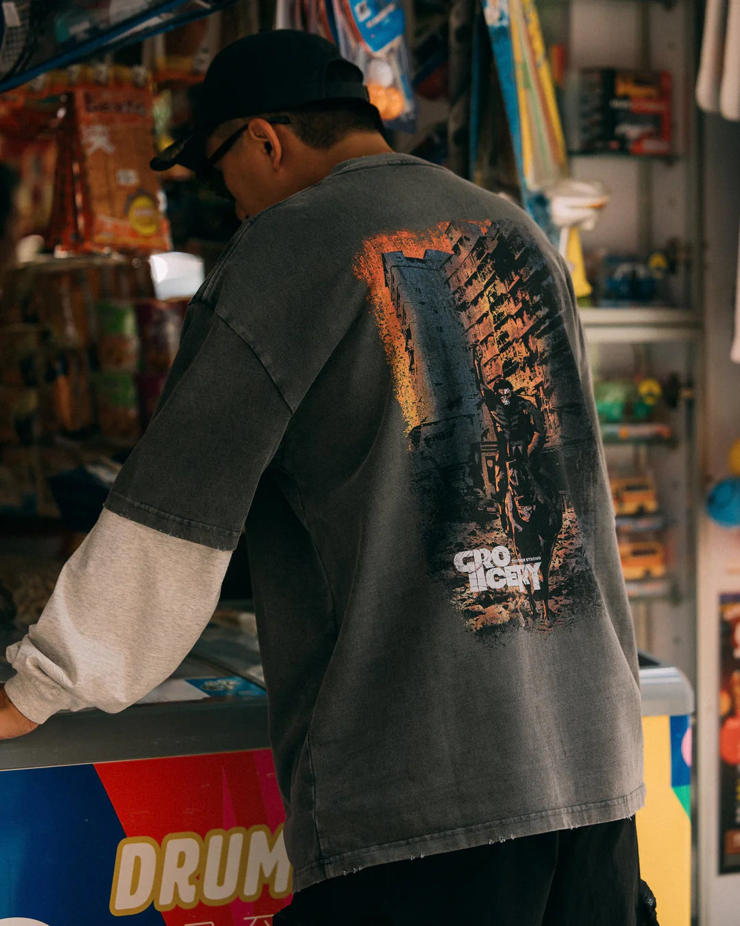
[[[154,417],[105,507],[170,536],[233,550],[289,420],[253,347],[213,307],[193,303]]]

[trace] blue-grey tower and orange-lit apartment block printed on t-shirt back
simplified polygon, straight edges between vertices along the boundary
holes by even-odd
[[[582,421],[583,409],[570,396],[580,389],[563,323],[542,310],[555,298],[547,265],[511,230],[450,222],[445,236],[449,251],[383,255],[420,422],[411,439],[422,484],[490,497],[495,445],[475,352],[487,386],[506,379],[540,409],[546,452],[567,453],[578,440],[569,425]]]

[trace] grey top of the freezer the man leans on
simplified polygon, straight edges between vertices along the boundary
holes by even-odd
[[[0,637],[0,653],[15,639],[18,634]],[[10,674],[0,660],[0,682]],[[223,679],[264,684],[254,632],[209,625],[191,655],[146,703],[120,714],[63,711],[27,736],[0,744],[0,771],[265,748],[264,688],[213,695],[184,681]],[[693,712],[693,692],[678,669],[641,653],[640,682],[644,717]],[[192,699],[181,699],[183,693]]]

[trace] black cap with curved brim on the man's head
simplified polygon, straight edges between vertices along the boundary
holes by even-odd
[[[289,29],[247,35],[213,59],[198,87],[191,131],[154,157],[150,167],[181,164],[197,172],[206,159],[205,140],[223,122],[343,99],[371,106],[363,72],[340,56],[336,45]]]

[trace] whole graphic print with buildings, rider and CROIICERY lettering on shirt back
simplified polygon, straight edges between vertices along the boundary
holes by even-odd
[[[545,258],[513,224],[378,235],[355,264],[390,364],[427,557],[485,639],[597,594],[572,504],[598,466]]]

